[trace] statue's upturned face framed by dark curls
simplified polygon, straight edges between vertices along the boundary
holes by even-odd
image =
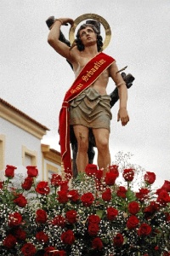
[[[97,35],[91,26],[87,26],[80,31],[80,39],[84,46],[96,44]]]

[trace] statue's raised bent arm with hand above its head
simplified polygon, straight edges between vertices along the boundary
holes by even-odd
[[[62,55],[68,61],[72,61],[69,46],[59,41],[60,26],[67,25],[67,23],[70,23],[72,26],[74,21],[70,18],[60,18],[54,21],[54,24],[50,27],[50,32],[48,33],[48,44],[50,44],[59,55]]]

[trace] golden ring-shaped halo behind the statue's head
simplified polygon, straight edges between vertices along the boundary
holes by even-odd
[[[111,27],[109,26],[108,22],[103,17],[101,17],[99,15],[86,14],[86,15],[81,15],[81,16],[77,17],[77,19],[74,20],[74,25],[71,26],[71,28],[70,28],[69,40],[70,40],[71,44],[74,42],[74,40],[75,40],[75,30],[77,28],[77,25],[80,22],[82,22],[82,20],[88,20],[88,19],[98,20],[105,28],[105,42],[104,42],[103,47],[101,49],[101,51],[102,51],[109,45],[109,43],[111,41]]]

